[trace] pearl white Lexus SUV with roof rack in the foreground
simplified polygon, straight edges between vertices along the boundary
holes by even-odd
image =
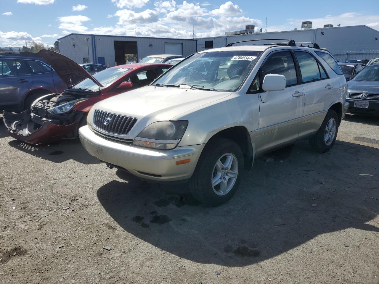
[[[202,62],[209,66],[199,72]],[[100,101],[79,134],[109,167],[187,180],[195,198],[217,206],[263,153],[299,139],[329,151],[349,105],[346,91],[337,62],[317,44],[229,44],[189,56],[150,86]]]

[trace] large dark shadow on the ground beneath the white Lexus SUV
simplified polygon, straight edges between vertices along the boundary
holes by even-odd
[[[351,227],[379,232],[378,224],[366,224],[379,211],[378,153],[336,141],[318,154],[298,142],[257,159],[235,196],[216,208],[200,205],[186,186],[142,182],[120,170],[127,182],[111,181],[97,197],[125,231],[163,253],[241,267],[320,234]]]

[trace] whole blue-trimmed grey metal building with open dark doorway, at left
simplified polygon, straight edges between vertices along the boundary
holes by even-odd
[[[196,52],[196,40],[72,33],[58,39],[58,49],[77,63],[111,67],[154,54],[188,56]]]

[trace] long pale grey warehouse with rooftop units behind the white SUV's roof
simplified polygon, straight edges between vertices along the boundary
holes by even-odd
[[[333,27],[312,29],[312,22],[303,22],[300,30],[257,33],[254,26],[245,30],[226,32],[225,36],[204,37],[197,39],[197,51],[208,48],[224,47],[231,42],[250,39],[293,39],[295,42],[316,42],[327,48],[334,58],[345,62],[348,59],[372,59],[379,57],[379,31],[367,26]],[[280,41],[255,41],[246,44],[265,44]],[[238,44],[236,44],[238,45]]]

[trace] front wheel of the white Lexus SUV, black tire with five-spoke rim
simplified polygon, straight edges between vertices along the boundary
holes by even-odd
[[[243,153],[234,141],[210,141],[197,162],[190,181],[193,196],[207,206],[218,206],[233,197],[241,182]]]

